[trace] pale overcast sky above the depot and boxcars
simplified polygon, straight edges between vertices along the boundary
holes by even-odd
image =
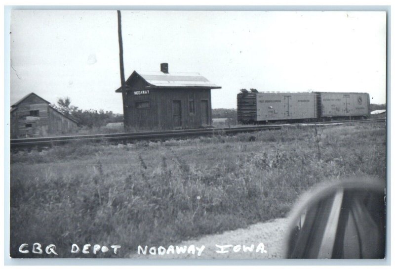
[[[343,11],[122,11],[125,77],[198,72],[236,108],[240,89],[368,92],[386,102],[386,14]],[[35,92],[55,103],[122,112],[117,11],[14,10],[11,104]]]

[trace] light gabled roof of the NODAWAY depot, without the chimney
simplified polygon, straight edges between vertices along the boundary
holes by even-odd
[[[178,89],[221,89],[221,87],[211,83],[199,73],[163,73],[163,72],[137,72],[134,71],[126,80],[126,90],[134,90],[130,85],[131,81],[140,77],[147,82],[146,89],[155,88],[178,88]],[[122,92],[121,88],[115,92]]]

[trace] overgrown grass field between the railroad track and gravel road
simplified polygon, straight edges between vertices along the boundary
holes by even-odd
[[[385,124],[283,128],[235,136],[69,144],[11,154],[11,254],[22,243],[159,246],[286,216],[326,180],[385,179]],[[32,257],[32,253],[25,256]],[[34,256],[34,255],[33,255]]]

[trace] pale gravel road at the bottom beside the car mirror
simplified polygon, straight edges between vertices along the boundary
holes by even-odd
[[[257,223],[247,228],[230,230],[221,234],[205,235],[200,239],[174,244],[174,253],[172,247],[168,245],[160,249],[151,248],[151,252],[155,252],[155,255],[149,253],[150,247],[147,247],[146,255],[143,255],[142,252],[138,255],[136,248],[136,252],[131,254],[130,257],[140,259],[281,259],[286,225],[287,219],[275,219],[266,223]],[[198,256],[196,248],[201,249],[202,245],[205,248]],[[232,246],[223,247],[222,251],[228,251],[228,253],[218,253],[216,251],[221,251],[221,248],[216,245]],[[254,245],[254,248],[252,252],[244,252],[243,245],[248,247]],[[176,246],[186,247],[187,250],[191,248],[191,253],[177,254]],[[158,254],[159,250],[161,255]],[[192,253],[193,250],[195,250],[195,254]],[[235,252],[235,250],[238,250],[238,252]]]

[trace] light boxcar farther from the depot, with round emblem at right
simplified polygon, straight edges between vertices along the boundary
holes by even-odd
[[[370,114],[368,93],[317,92],[317,94],[320,97],[321,117],[367,117]]]

